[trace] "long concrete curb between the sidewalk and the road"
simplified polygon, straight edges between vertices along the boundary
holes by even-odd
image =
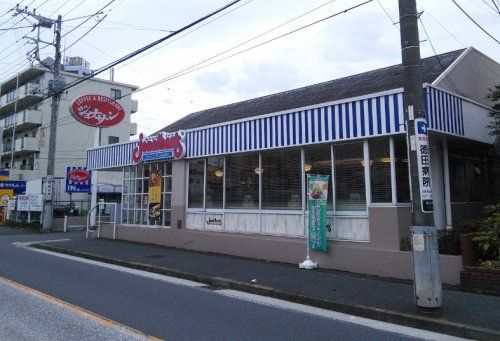
[[[333,310],[345,314],[355,315],[359,317],[369,318],[373,320],[378,320],[382,322],[389,322],[394,324],[399,324],[407,327],[413,327],[418,329],[425,329],[433,332],[444,333],[448,335],[476,339],[476,340],[500,340],[500,332],[481,328],[473,325],[455,323],[448,320],[443,320],[439,318],[430,318],[415,314],[402,313],[398,311],[378,309],[374,307],[356,305],[356,304],[346,304],[338,301],[331,301],[321,298],[315,298],[306,296],[303,294],[293,293],[278,290],[272,287],[249,284],[246,282],[241,282],[233,279],[220,278],[220,277],[209,277],[204,275],[198,275],[193,273],[187,273],[183,271],[178,271],[169,268],[157,267],[149,264],[129,262],[121,259],[109,258],[104,256],[99,256],[95,254],[90,254],[81,251],[68,250],[47,244],[31,244],[30,247],[58,252],[62,254],[67,254],[70,256],[86,258],[90,260],[95,260],[99,262],[124,266],[128,268],[133,268],[137,270],[143,270],[153,273],[158,273],[161,275],[172,276],[182,279],[187,279],[203,284],[207,284],[214,287],[220,287],[225,289],[233,289],[238,291],[244,291],[256,295],[268,296],[277,299],[282,299],[286,301],[301,303],[305,305],[310,305],[318,308]]]

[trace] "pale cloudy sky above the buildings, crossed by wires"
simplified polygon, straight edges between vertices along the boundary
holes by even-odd
[[[36,8],[43,16],[55,19],[62,15],[63,55],[83,57],[91,69],[98,69],[230,2],[114,0],[103,14],[85,17],[109,1],[19,3]],[[500,40],[498,0],[455,1]],[[373,0],[342,13],[363,2],[242,0],[116,66],[115,81],[145,88],[168,79],[132,94],[139,102],[132,121],[138,124],[138,132],[151,134],[199,110],[401,63],[398,2]],[[23,36],[30,35],[32,23],[11,16],[13,12],[8,11],[16,3],[0,0],[0,82],[29,66],[26,53],[31,46]],[[500,44],[452,0],[420,0],[417,8],[423,11],[419,22],[422,57],[473,46],[500,62]],[[341,14],[299,29],[336,13]],[[45,30],[41,38],[52,41],[53,33]],[[42,59],[53,54],[50,47],[41,51]],[[99,77],[108,79],[109,72]]]

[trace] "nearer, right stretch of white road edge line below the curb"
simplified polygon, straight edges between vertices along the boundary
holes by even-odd
[[[216,294],[232,297],[235,299],[240,299],[244,301],[254,302],[262,305],[272,306],[276,308],[281,308],[285,310],[298,311],[310,315],[320,316],[336,321],[344,321],[347,323],[353,323],[358,325],[363,325],[369,328],[382,330],[391,333],[397,333],[402,335],[407,335],[424,340],[466,340],[459,337],[454,337],[445,334],[439,334],[435,332],[430,332],[423,329],[416,329],[411,327],[405,327],[398,324],[392,324],[388,322],[382,322],[377,320],[370,320],[364,317],[358,317],[354,315],[348,315],[344,313],[339,313],[332,310],[326,310],[321,308],[316,308],[304,304],[294,303],[290,301],[279,300],[276,298],[271,298],[267,296],[260,296],[255,294],[250,294],[246,292],[223,289],[215,292]]]

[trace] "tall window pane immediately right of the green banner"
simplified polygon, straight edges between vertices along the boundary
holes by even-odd
[[[335,146],[336,211],[366,210],[363,144]]]

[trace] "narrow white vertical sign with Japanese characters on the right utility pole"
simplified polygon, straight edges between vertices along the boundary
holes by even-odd
[[[420,187],[420,205],[422,212],[434,211],[432,201],[432,181],[429,154],[429,138],[425,118],[415,119],[415,146],[417,148],[418,182]]]

